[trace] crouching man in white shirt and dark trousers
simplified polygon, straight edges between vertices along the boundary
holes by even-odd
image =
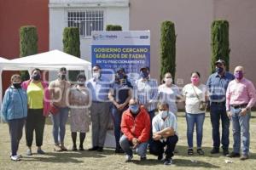
[[[163,161],[164,148],[166,146],[165,165],[172,164],[173,151],[177,144],[177,119],[169,111],[169,105],[160,103],[158,105],[159,114],[154,116],[152,121],[153,144],[149,146],[149,152],[158,156],[158,160]]]

